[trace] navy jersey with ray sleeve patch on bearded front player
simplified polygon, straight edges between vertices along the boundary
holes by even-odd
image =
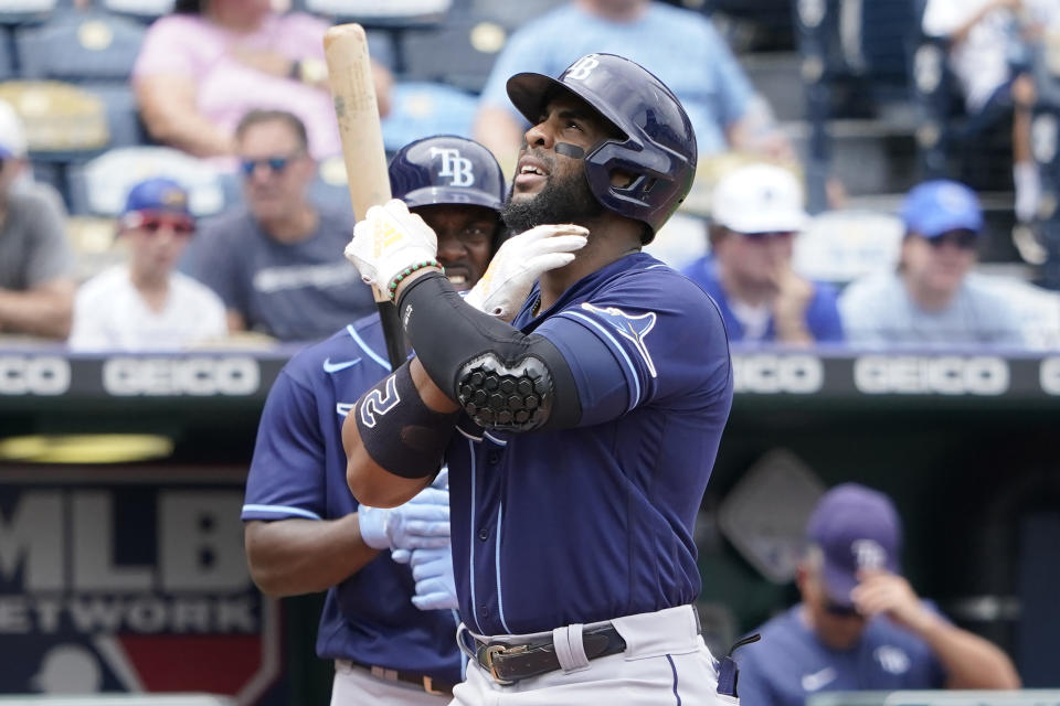
[[[484,431],[446,451],[460,617],[527,633],[690,603],[692,527],[732,404],[718,307],[646,254],[572,286],[538,318],[577,385],[580,426]]]

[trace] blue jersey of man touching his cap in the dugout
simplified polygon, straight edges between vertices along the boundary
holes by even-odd
[[[740,700],[755,706],[803,706],[817,692],[942,688],[945,672],[920,638],[887,618],[873,618],[850,650],[820,642],[801,606],[762,627],[762,641],[736,652]]]

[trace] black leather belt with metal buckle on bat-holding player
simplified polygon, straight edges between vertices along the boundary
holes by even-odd
[[[513,684],[560,668],[551,635],[523,644],[485,642],[470,633],[468,638],[475,645],[475,659],[501,684]],[[584,631],[582,644],[590,660],[617,654],[626,649],[626,641],[611,623]]]

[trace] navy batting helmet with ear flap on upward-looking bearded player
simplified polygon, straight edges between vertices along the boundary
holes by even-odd
[[[534,125],[558,93],[581,98],[622,133],[585,156],[585,175],[605,208],[651,228],[649,242],[696,175],[696,133],[685,108],[654,74],[614,54],[587,54],[558,79],[534,73],[508,79],[508,97]],[[614,171],[632,174],[633,182],[613,185]]]

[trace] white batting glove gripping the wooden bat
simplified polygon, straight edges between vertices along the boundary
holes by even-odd
[[[403,201],[393,199],[368,210],[343,254],[365,284],[389,293],[399,275],[437,257],[438,237]]]

